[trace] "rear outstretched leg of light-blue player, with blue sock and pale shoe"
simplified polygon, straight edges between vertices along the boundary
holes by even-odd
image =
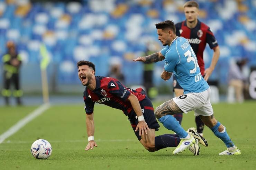
[[[230,137],[228,136],[226,127],[224,127],[220,122],[218,122],[214,117],[213,114],[211,116],[200,116],[202,121],[206,126],[208,126],[212,132],[220,138],[226,145],[227,150],[219,153],[219,154],[225,154],[225,155],[231,155],[231,154],[241,154],[240,150],[234,145],[234,143],[231,141]]]

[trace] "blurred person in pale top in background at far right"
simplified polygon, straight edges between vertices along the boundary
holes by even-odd
[[[228,82],[229,87],[235,89],[235,99],[236,102],[244,101],[243,90],[248,89],[247,76],[244,75],[243,69],[246,66],[247,59],[237,59],[231,60],[228,72]],[[247,86],[246,86],[247,84]]]

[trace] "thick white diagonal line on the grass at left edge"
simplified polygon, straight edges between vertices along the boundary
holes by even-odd
[[[15,125],[13,125],[10,129],[0,135],[0,143],[2,143],[6,138],[10,137],[12,134],[16,133],[22,127],[24,127],[28,122],[42,114],[50,107],[49,103],[42,104],[36,110],[28,114],[25,118],[18,121]]]

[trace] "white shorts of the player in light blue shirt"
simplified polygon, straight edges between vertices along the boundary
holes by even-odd
[[[210,103],[211,89],[200,93],[187,93],[182,96],[173,98],[173,101],[184,112],[188,113],[192,110],[195,116],[211,116],[213,114],[212,105]]]

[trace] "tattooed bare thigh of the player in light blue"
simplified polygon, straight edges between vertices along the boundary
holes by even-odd
[[[171,99],[169,101],[164,102],[160,106],[158,106],[155,110],[155,116],[157,119],[165,116],[165,115],[173,115],[175,113],[183,112],[179,106]]]

